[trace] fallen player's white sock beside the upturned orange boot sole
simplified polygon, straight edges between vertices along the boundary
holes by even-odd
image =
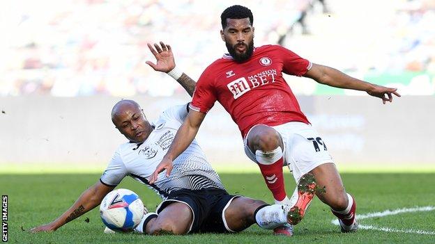
[[[287,224],[288,205],[270,205],[259,209],[255,214],[257,225],[264,229],[275,229],[281,225]]]

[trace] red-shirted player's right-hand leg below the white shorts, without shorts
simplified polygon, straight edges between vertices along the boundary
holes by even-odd
[[[356,201],[344,190],[335,164],[325,163],[311,172],[316,176],[317,184],[325,188],[325,192],[317,193],[317,197],[330,206],[333,214],[339,219],[342,232],[356,231],[358,229]]]

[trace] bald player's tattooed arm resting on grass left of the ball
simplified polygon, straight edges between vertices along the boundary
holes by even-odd
[[[96,206],[100,205],[101,200],[113,190],[112,186],[105,186],[100,181],[98,181],[95,185],[91,186],[87,190],[85,190],[82,195],[75,201],[73,206],[71,206],[65,213],[63,213],[59,218],[53,220],[53,222],[48,223],[47,225],[41,225],[38,227],[34,227],[30,229],[31,232],[40,232],[40,231],[56,231],[62,225],[74,220],[80,215],[86,213],[87,211],[92,210]]]

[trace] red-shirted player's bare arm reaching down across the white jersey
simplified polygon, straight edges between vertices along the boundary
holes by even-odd
[[[173,168],[172,162],[189,147],[190,143],[192,143],[192,140],[197,135],[199,126],[204,120],[204,117],[206,117],[205,113],[190,109],[188,116],[178,129],[175,138],[172,141],[171,147],[169,147],[168,152],[165,154],[157,168],[155,168],[153,174],[151,174],[149,179],[150,184],[155,182],[158,174],[163,170],[166,170],[166,176],[169,177],[169,174],[171,174],[171,170]]]

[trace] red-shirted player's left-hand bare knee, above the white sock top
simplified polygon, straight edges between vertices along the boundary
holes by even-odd
[[[270,151],[282,147],[280,134],[272,127],[257,126],[250,131],[247,138],[252,152],[258,150]]]

